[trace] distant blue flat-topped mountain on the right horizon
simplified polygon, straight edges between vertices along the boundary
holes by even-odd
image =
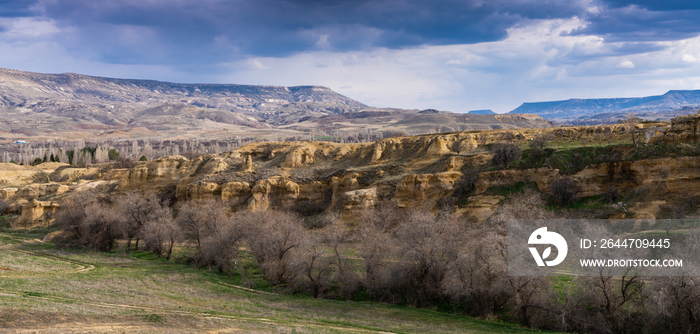
[[[700,90],[672,90],[664,95],[637,98],[527,102],[509,113],[535,114],[549,120],[600,119],[601,116],[616,118],[620,114],[630,112],[652,118],[655,114],[668,115],[674,111],[689,110],[698,106],[700,106]]]

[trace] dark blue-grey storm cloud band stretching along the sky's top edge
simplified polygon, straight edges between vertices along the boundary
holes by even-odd
[[[598,12],[589,11],[590,5]],[[69,52],[109,63],[174,65],[312,50],[490,42],[533,19],[574,16],[589,24],[571,35],[599,35],[606,42],[678,40],[700,33],[699,13],[698,1],[652,0],[9,0],[0,5],[0,17],[40,16],[70,28],[71,35],[56,37]],[[626,52],[644,52],[644,47]]]

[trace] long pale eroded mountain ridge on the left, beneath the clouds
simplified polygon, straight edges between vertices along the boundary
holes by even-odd
[[[179,84],[0,68],[0,141],[449,132],[546,127],[538,116],[372,108],[323,86]]]

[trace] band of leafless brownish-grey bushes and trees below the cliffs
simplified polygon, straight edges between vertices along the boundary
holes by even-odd
[[[64,246],[109,252],[125,239],[127,251],[170,260],[179,245],[179,261],[249,288],[433,308],[539,329],[698,333],[697,278],[507,276],[507,220],[556,218],[544,206],[540,194],[525,191],[484,223],[470,224],[447,211],[400,210],[387,202],[365,211],[361,224],[330,215],[327,226],[309,230],[287,211],[229,213],[216,201],[171,209],[153,195],[107,201],[83,192],[66,199],[57,222]]]

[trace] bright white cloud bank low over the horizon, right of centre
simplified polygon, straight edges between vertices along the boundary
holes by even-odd
[[[689,70],[694,65],[680,61],[684,54],[700,54],[700,38],[625,55],[616,53],[624,45],[599,36],[566,34],[586,24],[579,18],[532,21],[511,29],[502,41],[472,45],[256,58],[267,69],[240,70],[234,62],[217,81],[320,84],[369,105],[455,112],[506,112],[522,102],[700,88],[700,67]]]

